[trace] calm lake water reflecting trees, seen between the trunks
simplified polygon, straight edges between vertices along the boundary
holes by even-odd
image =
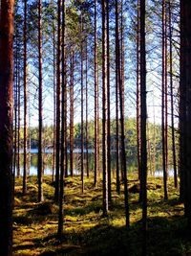
[[[22,152],[22,151],[21,151]],[[80,159],[81,159],[81,150],[80,149],[75,149],[74,150],[74,175],[80,175],[80,170],[81,170],[81,165],[80,165]],[[94,151],[89,150],[88,151],[88,160],[89,160],[89,171],[94,172]],[[30,154],[29,154],[30,155]],[[28,157],[30,157],[28,155]],[[46,150],[44,151],[43,154],[43,162],[44,162],[44,174],[45,175],[52,175],[53,174],[53,150]],[[101,157],[101,156],[100,156]],[[69,159],[69,154],[68,154],[68,159]],[[129,157],[127,160],[128,164],[128,172],[134,173],[138,172],[138,166],[136,159],[133,159],[132,157]],[[86,151],[84,150],[84,172],[86,172]],[[68,168],[69,168],[69,163],[68,163]],[[101,163],[100,163],[101,167]],[[116,156],[115,154],[112,154],[112,161],[111,161],[111,168],[114,170],[113,172],[115,173],[116,169]],[[23,153],[20,154],[20,172],[22,175],[23,172]],[[68,170],[68,173],[70,174],[70,170]],[[31,150],[31,161],[28,161],[28,174],[29,175],[37,175],[37,149],[32,149]],[[156,166],[156,171],[155,174],[151,174],[149,171],[149,175],[155,175],[155,176],[163,176],[163,172],[161,169],[161,165]],[[172,168],[169,168],[168,170],[168,175],[173,176],[174,175],[174,170]]]

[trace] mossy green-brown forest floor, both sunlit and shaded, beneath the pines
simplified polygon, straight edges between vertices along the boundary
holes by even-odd
[[[37,203],[37,179],[28,178],[28,192],[22,196],[22,180],[16,179],[13,211],[13,255],[141,255],[141,205],[138,203],[138,179],[129,176],[131,227],[125,227],[123,188],[116,193],[112,184],[113,203],[108,218],[102,217],[101,180],[85,179],[84,193],[78,176],[65,182],[64,239],[58,242],[57,212],[53,203],[54,183],[44,177],[44,203]],[[163,199],[162,179],[148,178],[147,255],[191,255],[191,235],[186,229],[179,191],[168,181],[169,199]],[[187,230],[187,231],[186,231]]]

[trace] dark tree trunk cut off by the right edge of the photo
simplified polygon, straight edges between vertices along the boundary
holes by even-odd
[[[191,226],[191,6],[180,1],[180,171],[184,213]]]

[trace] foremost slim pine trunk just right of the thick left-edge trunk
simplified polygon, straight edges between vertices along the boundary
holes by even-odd
[[[27,192],[27,0],[24,8],[24,162],[23,162],[23,194]]]

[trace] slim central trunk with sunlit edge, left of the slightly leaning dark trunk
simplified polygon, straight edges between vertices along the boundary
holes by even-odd
[[[103,216],[108,215],[108,161],[107,161],[107,30],[106,1],[102,8],[102,169],[103,169]]]

